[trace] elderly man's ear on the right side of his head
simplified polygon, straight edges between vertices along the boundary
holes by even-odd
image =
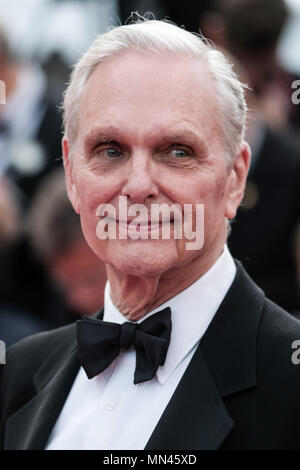
[[[250,166],[250,156],[250,147],[246,142],[243,142],[240,152],[233,161],[228,177],[228,198],[225,212],[227,219],[234,219],[236,211],[242,202]]]

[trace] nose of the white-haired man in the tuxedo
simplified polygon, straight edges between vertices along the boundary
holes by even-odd
[[[151,161],[151,157],[143,152],[132,155],[122,195],[138,204],[158,196],[159,189],[155,182],[156,169],[154,166],[155,163]]]

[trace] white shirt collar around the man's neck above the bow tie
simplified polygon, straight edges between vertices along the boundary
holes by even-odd
[[[231,286],[235,273],[234,261],[225,245],[221,256],[201,278],[139,320],[141,322],[166,307],[171,308],[170,345],[166,361],[156,373],[161,384],[200,341]],[[120,324],[128,321],[111,300],[109,282],[105,287],[103,320]]]

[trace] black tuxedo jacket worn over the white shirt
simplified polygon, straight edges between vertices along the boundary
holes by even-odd
[[[183,312],[184,315],[184,312]],[[201,299],[199,299],[201,315]],[[76,328],[13,346],[2,367],[1,446],[43,449],[79,369]],[[300,323],[237,275],[145,449],[299,449]]]

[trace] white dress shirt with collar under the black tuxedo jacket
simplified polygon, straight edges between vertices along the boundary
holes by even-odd
[[[225,245],[222,255],[204,276],[140,320],[168,306],[172,310],[166,361],[152,380],[134,385],[133,348],[121,352],[93,379],[89,380],[81,367],[45,449],[144,449],[235,272]],[[103,319],[120,324],[128,321],[112,303],[109,283],[105,288]]]

